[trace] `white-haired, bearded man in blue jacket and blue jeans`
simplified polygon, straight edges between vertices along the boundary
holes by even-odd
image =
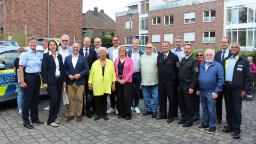
[[[200,94],[203,109],[203,122],[197,129],[209,129],[207,133],[211,134],[217,132],[216,99],[224,83],[223,67],[214,60],[214,55],[215,52],[212,49],[207,49],[204,53],[205,60],[199,68],[199,91],[197,91],[197,94]]]

